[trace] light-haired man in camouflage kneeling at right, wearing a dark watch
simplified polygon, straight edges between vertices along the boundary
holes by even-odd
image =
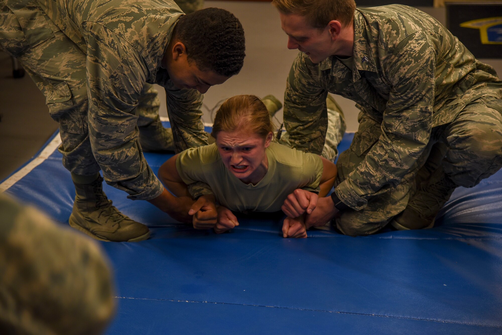
[[[273,4],[288,48],[301,51],[284,99],[290,142],[321,152],[328,92],[360,110],[335,190],[307,226],[336,217],[353,236],[389,223],[431,227],[455,188],[500,169],[502,82],[437,20],[401,5],[356,9],[353,0]],[[298,206],[307,208],[305,197]]]

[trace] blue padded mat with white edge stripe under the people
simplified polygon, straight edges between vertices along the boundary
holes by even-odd
[[[58,139],[0,190],[67,225],[75,194]],[[157,172],[169,155],[145,157]],[[456,190],[433,229],[367,237],[284,239],[271,215],[217,235],[105,192],[152,230],[138,243],[100,242],[118,305],[106,334],[502,333],[502,171]]]

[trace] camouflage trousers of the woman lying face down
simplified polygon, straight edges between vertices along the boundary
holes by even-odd
[[[328,160],[335,161],[336,156],[338,155],[337,146],[341,142],[347,126],[345,125],[345,119],[341,111],[330,108],[328,108],[327,111],[328,129],[326,131],[326,140],[324,142],[321,156]],[[280,139],[276,141],[280,144],[292,147],[289,141],[289,133],[287,131],[282,131]]]

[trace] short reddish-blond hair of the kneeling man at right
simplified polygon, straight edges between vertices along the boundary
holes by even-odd
[[[307,18],[314,28],[324,28],[332,20],[344,26],[354,18],[354,0],[273,0],[272,4],[284,14],[296,14]]]

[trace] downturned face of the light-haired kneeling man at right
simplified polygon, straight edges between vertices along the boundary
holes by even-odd
[[[288,49],[304,52],[313,63],[319,63],[332,55],[330,27],[312,27],[305,17],[279,12],[281,27],[288,35]]]

